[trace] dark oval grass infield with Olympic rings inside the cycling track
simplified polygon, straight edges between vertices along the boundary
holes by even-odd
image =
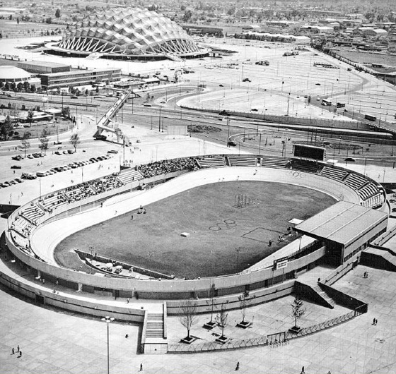
[[[235,196],[241,194],[252,204],[235,207]],[[276,239],[286,233],[290,219],[307,219],[333,203],[328,195],[284,183],[213,183],[153,203],[146,214],[135,211],[79,231],[59,243],[55,258],[79,269],[81,263],[70,250],[88,252],[95,246],[107,258],[177,277],[226,275],[289,243],[278,245]],[[182,232],[190,236],[182,237]]]

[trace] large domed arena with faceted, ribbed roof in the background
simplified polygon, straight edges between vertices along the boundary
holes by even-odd
[[[107,59],[177,60],[209,53],[169,18],[141,8],[113,9],[83,18],[51,49],[55,54],[95,54]]]

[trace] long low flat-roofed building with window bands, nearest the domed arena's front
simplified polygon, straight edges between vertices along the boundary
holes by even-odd
[[[121,69],[97,69],[69,71],[65,73],[40,74],[41,85],[47,90],[52,88],[76,87],[92,83],[112,82],[120,80]]]

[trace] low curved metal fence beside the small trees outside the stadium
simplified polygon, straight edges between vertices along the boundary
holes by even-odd
[[[276,332],[275,334],[270,334],[268,336],[262,336],[252,339],[242,339],[242,340],[230,340],[226,343],[218,342],[205,342],[198,344],[168,344],[169,354],[182,354],[182,353],[197,353],[206,351],[225,351],[228,349],[242,349],[249,348],[252,346],[269,346],[275,348],[284,344],[288,344],[291,339],[296,339],[299,337],[304,337],[305,335],[315,334],[322,330],[329,329],[331,327],[340,325],[341,323],[347,322],[358,315],[366,313],[366,309],[361,306],[351,312],[344,315],[339,315],[336,318],[327,320],[325,322],[320,322],[317,325],[303,327],[298,333],[293,333],[289,331]]]

